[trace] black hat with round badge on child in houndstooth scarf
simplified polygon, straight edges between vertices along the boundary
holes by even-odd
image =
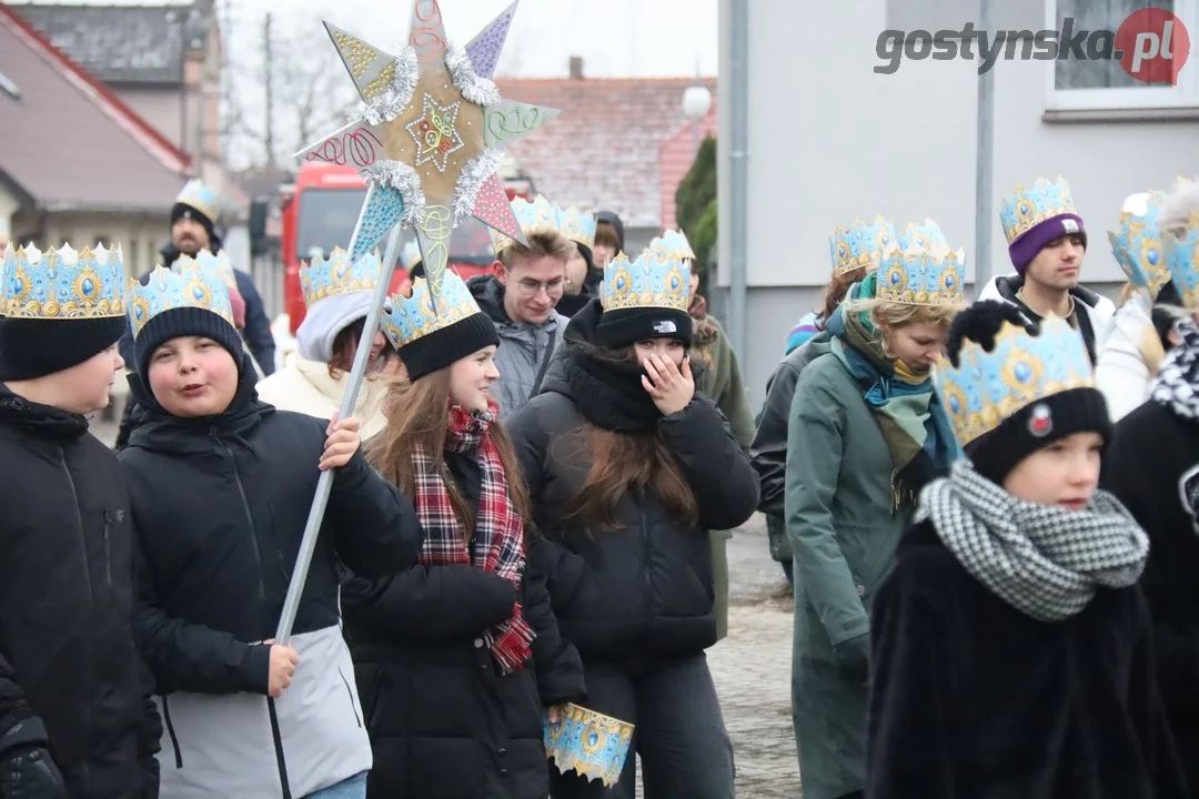
[[[959,365],[959,353],[966,341],[987,352],[995,347],[995,335],[1005,322],[1040,335],[1041,325],[1025,319],[1016,305],[984,299],[963,310],[953,320],[946,344],[946,357]],[[1079,387],[1049,394],[1019,408],[999,426],[963,446],[975,470],[1002,485],[1016,466],[1048,444],[1076,432],[1098,432],[1107,441],[1111,418],[1103,394],[1097,388]]]

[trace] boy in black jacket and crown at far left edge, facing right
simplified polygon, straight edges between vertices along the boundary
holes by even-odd
[[[158,795],[133,527],[85,414],[123,367],[119,250],[10,248],[0,276],[0,797]]]

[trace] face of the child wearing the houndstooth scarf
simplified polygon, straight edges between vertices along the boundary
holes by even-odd
[[[1059,438],[1017,464],[1004,490],[1018,500],[1081,510],[1099,485],[1102,447],[1097,432]]]

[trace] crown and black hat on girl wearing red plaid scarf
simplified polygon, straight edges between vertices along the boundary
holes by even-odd
[[[458,273],[447,271],[442,280],[436,309],[428,283],[417,278],[412,282],[412,296],[392,295],[384,311],[382,331],[412,381],[500,344],[495,323],[478,309]]]

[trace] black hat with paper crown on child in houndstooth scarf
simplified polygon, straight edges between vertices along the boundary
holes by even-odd
[[[954,436],[994,483],[1059,438],[1111,432],[1083,337],[1056,316],[1030,323],[1008,303],[975,303],[953,320],[934,382]]]

